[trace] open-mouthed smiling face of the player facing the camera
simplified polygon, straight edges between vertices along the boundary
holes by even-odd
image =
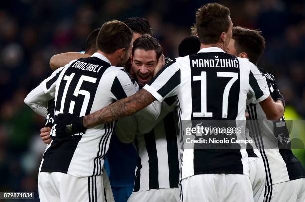
[[[144,86],[152,79],[157,62],[155,50],[145,51],[143,49],[136,49],[134,51],[132,68],[140,86]]]

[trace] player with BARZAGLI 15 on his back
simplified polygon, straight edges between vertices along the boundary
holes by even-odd
[[[25,103],[43,107],[55,97],[56,126],[60,116],[85,115],[135,93],[137,89],[128,74],[122,67],[115,67],[128,60],[132,37],[131,29],[123,22],[104,23],[97,37],[98,51],[57,69],[29,93]],[[38,112],[37,108],[34,110]],[[75,132],[68,138],[57,134],[53,126],[53,140],[43,155],[39,172],[41,201],[104,201],[101,170],[113,125]]]

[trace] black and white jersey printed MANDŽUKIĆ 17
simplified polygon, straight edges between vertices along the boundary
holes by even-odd
[[[159,101],[177,96],[180,139],[185,135],[181,120],[245,120],[247,94],[253,102],[269,96],[266,80],[255,65],[217,47],[177,58],[144,89]],[[181,179],[207,173],[249,173],[244,149],[184,148],[181,141]]]

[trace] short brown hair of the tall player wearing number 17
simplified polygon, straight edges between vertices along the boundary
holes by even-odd
[[[229,8],[218,3],[208,3],[196,12],[197,33],[203,44],[214,44],[219,41],[220,34],[227,32],[230,23]]]

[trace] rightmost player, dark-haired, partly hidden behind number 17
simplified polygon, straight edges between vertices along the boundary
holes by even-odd
[[[250,62],[256,64],[263,53],[264,47],[265,40],[260,32],[243,27],[234,27],[233,37],[227,52],[242,58],[248,58]],[[272,98],[279,105],[284,105],[284,98],[279,92],[274,76],[263,69],[260,70],[266,77]],[[263,157],[263,172],[267,180],[266,188],[264,187],[264,202],[304,202],[305,169],[292,153],[290,141],[282,141],[282,139],[289,140],[284,116],[275,123],[267,121],[262,108],[257,104],[249,104],[249,102],[247,111],[249,119],[259,120],[254,121],[254,124],[250,127],[252,129],[250,135],[261,137],[256,139]],[[273,143],[277,145],[275,149],[271,148]],[[259,169],[259,165],[257,165],[257,169]],[[260,201],[263,201],[263,199]]]

